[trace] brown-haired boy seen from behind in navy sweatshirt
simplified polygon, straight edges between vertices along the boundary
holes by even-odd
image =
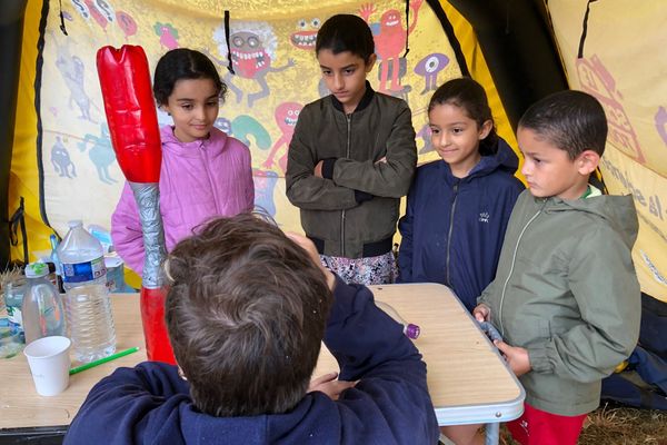
[[[166,265],[179,366],[117,369],[64,442],[437,443],[426,364],[402,326],[369,289],[325,270],[310,240],[291,238],[243,214],[180,241]],[[322,339],[355,382],[326,394],[309,392]]]

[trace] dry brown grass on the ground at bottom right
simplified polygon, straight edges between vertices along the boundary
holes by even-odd
[[[500,444],[518,445],[502,427]],[[667,412],[603,403],[584,423],[579,445],[667,445]]]

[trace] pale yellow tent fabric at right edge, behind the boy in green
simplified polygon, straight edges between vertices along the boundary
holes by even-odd
[[[641,290],[667,301],[667,8],[624,0],[589,8],[585,20],[586,2],[549,1],[570,87],[597,97],[607,113],[607,188],[635,198],[640,228],[633,256]]]

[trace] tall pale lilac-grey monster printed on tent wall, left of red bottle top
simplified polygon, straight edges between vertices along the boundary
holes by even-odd
[[[53,38],[53,41],[58,41],[52,32],[49,34]],[[58,43],[57,43],[58,44]],[[89,120],[97,123],[90,116],[91,101],[86,93],[86,87],[83,80],[86,78],[86,67],[78,56],[71,56],[68,44],[58,44],[56,56],[56,68],[60,71],[64,85],[69,90],[68,106],[73,109],[73,103],[77,105],[81,116],[80,119]]]

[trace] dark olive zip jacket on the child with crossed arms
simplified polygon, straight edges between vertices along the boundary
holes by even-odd
[[[325,159],[330,178],[316,177],[315,166]],[[301,110],[289,146],[287,197],[301,209],[306,235],[323,241],[321,254],[360,258],[365,246],[396,233],[416,164],[408,105],[367,83],[352,113],[334,96]]]

